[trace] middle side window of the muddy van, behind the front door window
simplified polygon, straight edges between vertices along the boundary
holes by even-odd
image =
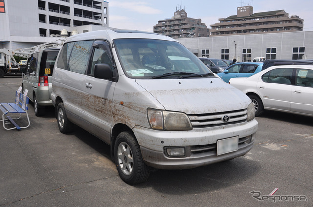
[[[75,42],[68,62],[69,71],[86,73],[92,43],[93,40]]]

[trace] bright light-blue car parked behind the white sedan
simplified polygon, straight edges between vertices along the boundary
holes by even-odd
[[[262,62],[241,62],[229,66],[224,72],[217,75],[225,82],[231,78],[249,77],[262,70]]]

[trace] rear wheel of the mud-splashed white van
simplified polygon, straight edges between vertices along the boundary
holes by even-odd
[[[73,131],[73,123],[67,119],[67,114],[62,102],[57,106],[57,121],[61,133],[66,134]]]

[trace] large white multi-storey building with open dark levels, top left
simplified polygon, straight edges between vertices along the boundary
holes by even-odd
[[[34,46],[109,24],[109,3],[103,0],[1,1],[0,48]]]

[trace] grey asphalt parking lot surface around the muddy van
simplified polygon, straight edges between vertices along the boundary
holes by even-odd
[[[0,102],[14,102],[21,85],[22,78],[0,79]],[[313,206],[312,117],[266,112],[256,118],[256,142],[245,156],[154,170],[130,186],[108,145],[79,127],[60,133],[53,107],[36,117],[31,103],[28,113],[27,129],[0,123],[0,207]]]

